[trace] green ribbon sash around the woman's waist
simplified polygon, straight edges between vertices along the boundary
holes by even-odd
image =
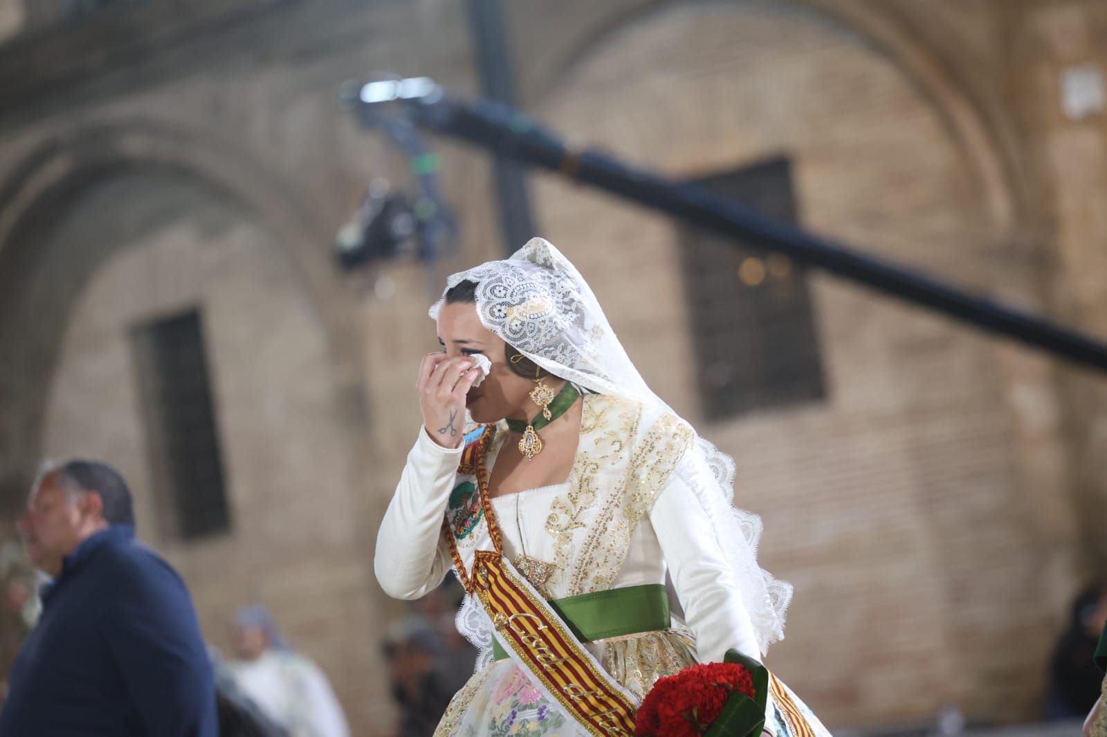
[[[660,583],[555,599],[550,601],[550,608],[580,642],[668,630],[672,624],[669,593]],[[495,637],[492,652],[497,661],[508,656]]]

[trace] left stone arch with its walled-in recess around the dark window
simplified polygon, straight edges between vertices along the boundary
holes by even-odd
[[[94,122],[23,150],[0,184],[0,519],[43,453],[108,458],[215,642],[237,605],[265,601],[348,708],[385,693],[361,627],[380,617],[363,559],[362,482],[380,459],[360,369],[370,329],[329,262],[333,231],[294,180],[175,125]],[[156,523],[164,497],[128,362],[128,329],[182,307],[205,319],[232,520],[193,541]],[[319,571],[341,604],[297,606]]]

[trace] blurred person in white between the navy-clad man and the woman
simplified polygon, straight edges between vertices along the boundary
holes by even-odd
[[[235,620],[238,660],[229,668],[239,687],[291,737],[349,737],[345,715],[323,672],[293,652],[263,606]]]

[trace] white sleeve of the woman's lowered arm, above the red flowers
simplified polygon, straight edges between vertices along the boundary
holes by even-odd
[[[680,467],[654,502],[650,523],[684,609],[685,624],[695,635],[700,661],[721,662],[734,647],[759,663],[757,636],[733,569],[715,541],[707,513],[681,478]]]

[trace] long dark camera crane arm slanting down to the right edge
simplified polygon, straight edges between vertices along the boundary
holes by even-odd
[[[779,251],[899,301],[1107,373],[1107,343],[1103,341],[767,218],[702,187],[672,181],[597,150],[573,150],[507,105],[461,102],[445,95],[441,87],[402,98],[418,124],[445,135],[556,172],[696,227]]]

